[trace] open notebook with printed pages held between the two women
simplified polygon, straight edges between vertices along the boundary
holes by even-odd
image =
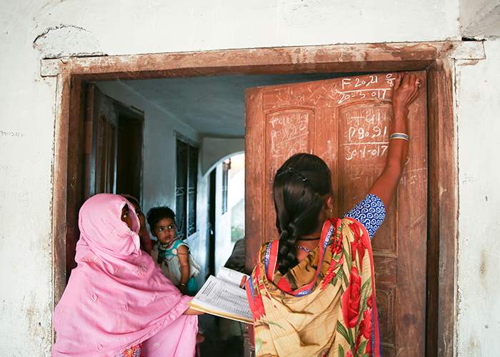
[[[194,310],[231,320],[253,323],[244,290],[249,276],[228,268],[221,268],[217,276],[209,276],[200,291],[189,301]]]

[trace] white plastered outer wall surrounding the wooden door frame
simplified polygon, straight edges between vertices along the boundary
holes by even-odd
[[[56,82],[39,76],[41,57],[460,39],[459,7],[458,0],[2,1],[0,354],[48,356],[51,346]],[[461,356],[489,356],[500,336],[492,297],[500,94],[491,81],[481,84],[498,74],[498,42],[486,51],[486,60],[457,66]]]

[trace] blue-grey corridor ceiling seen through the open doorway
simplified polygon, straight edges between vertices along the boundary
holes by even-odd
[[[202,136],[243,137],[245,89],[331,79],[341,74],[206,76],[121,81]]]

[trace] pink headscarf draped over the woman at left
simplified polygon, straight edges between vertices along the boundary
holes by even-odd
[[[129,205],[132,230],[121,221]],[[80,209],[80,239],[68,286],[54,312],[53,356],[116,356],[143,341],[144,356],[193,356],[189,296],[142,253],[139,219],[126,198],[101,193]]]

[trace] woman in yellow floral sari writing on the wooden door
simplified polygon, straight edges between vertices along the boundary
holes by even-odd
[[[386,166],[344,218],[327,218],[331,173],[318,156],[296,154],[277,171],[279,240],[262,246],[246,286],[256,356],[381,356],[371,238],[404,169],[418,89],[414,75],[394,81]]]

